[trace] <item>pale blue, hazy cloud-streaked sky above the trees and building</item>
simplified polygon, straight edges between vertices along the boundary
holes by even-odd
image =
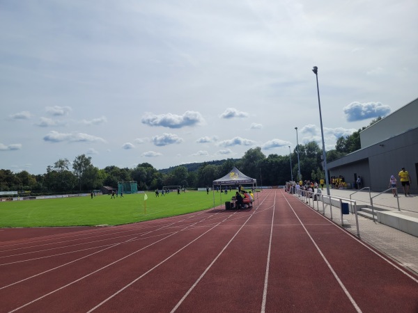
[[[320,111],[334,149],[418,97],[417,12],[416,0],[1,0],[0,168],[288,155],[322,147]]]

